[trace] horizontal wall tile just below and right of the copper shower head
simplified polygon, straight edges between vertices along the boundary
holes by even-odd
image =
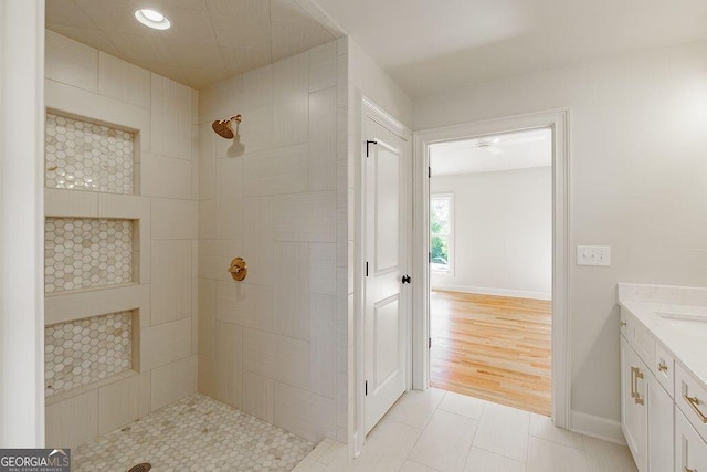
[[[307,191],[307,145],[249,154],[243,157],[243,195],[264,196]]]

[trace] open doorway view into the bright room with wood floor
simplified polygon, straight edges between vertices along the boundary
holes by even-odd
[[[552,132],[430,146],[430,386],[550,416]]]

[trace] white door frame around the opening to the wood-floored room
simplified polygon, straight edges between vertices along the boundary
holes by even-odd
[[[435,143],[502,133],[552,130],[552,366],[551,396],[555,426],[570,429],[570,111],[551,109],[416,132],[413,154],[413,388],[430,384],[430,153]]]

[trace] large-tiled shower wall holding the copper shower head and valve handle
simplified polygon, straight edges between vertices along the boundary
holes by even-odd
[[[199,390],[312,441],[347,441],[346,65],[335,41],[199,102]],[[211,123],[236,113],[229,157]]]

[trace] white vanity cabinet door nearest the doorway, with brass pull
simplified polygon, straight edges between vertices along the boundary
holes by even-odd
[[[641,358],[621,336],[621,429],[641,472],[648,470],[646,387],[644,379],[640,378],[646,370]]]

